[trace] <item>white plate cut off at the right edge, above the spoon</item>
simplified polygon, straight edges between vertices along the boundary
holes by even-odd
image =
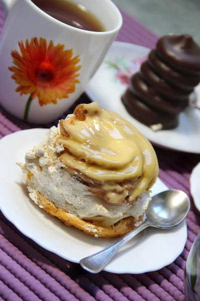
[[[190,176],[190,193],[193,198],[194,205],[200,212],[199,179],[200,179],[200,162],[194,167]]]

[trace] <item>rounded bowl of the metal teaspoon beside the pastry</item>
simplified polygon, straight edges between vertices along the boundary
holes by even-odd
[[[188,196],[180,190],[167,190],[155,195],[146,210],[148,223],[167,229],[178,225],[190,208]]]

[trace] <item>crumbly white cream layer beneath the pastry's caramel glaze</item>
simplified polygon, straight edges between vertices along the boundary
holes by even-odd
[[[133,216],[138,219],[145,212],[151,198],[145,191],[134,204],[112,205],[93,196],[87,186],[80,183],[76,176],[69,175],[64,170],[64,165],[57,159],[57,154],[63,149],[54,147],[54,138],[59,134],[55,126],[46,133],[43,141],[25,155],[25,165],[22,169],[30,171],[29,196],[37,203],[34,189],[40,192],[57,207],[80,218],[101,218],[113,224],[121,218]],[[34,188],[34,189],[33,189]]]

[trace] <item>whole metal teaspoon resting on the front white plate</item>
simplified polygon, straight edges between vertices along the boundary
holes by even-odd
[[[188,196],[180,190],[166,190],[155,195],[146,210],[145,220],[134,230],[105,249],[80,260],[80,265],[91,273],[100,272],[114,254],[140,231],[147,227],[170,229],[186,217],[190,207]]]

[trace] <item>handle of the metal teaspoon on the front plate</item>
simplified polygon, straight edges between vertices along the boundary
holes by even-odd
[[[147,219],[143,221],[138,227],[134,230],[123,236],[121,239],[117,240],[112,245],[106,247],[105,249],[87,256],[80,260],[79,264],[88,272],[91,273],[98,273],[100,272],[103,267],[109,262],[109,260],[114,256],[114,254],[128,242],[131,238],[137,235],[140,231],[144,230],[145,228],[149,227],[149,223]]]

